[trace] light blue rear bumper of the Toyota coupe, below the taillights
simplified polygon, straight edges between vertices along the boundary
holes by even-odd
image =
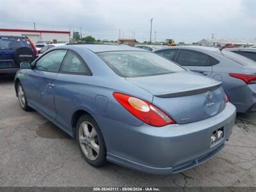
[[[108,161],[141,172],[171,174],[204,163],[224,147],[232,132],[236,108],[227,103],[221,113],[211,118],[165,127],[134,127],[99,116],[95,119],[104,136]],[[220,127],[224,127],[224,138],[211,147],[211,133]]]

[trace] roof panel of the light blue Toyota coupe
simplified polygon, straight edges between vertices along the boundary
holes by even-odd
[[[130,47],[129,45],[106,45],[106,44],[88,44],[88,45],[66,45],[68,47],[79,47],[82,49],[89,49],[92,52],[108,52],[108,51],[144,51],[143,49],[139,49],[136,47]],[[146,51],[146,50],[145,50]]]

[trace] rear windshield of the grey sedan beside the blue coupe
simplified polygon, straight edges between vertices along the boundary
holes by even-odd
[[[221,51],[223,53],[223,55],[233,61],[236,61],[237,63],[239,63],[240,65],[243,66],[251,66],[251,67],[256,67],[256,62],[253,60],[250,60],[244,56],[241,56],[240,54],[231,52],[231,51]]]

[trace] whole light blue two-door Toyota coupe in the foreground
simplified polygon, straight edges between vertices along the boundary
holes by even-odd
[[[92,166],[182,172],[219,152],[236,118],[219,81],[134,47],[54,47],[21,68],[21,108],[76,138]]]

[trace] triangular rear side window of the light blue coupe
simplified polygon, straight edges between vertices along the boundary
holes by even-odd
[[[65,60],[63,61],[60,72],[72,74],[90,74],[90,70],[88,70],[88,68],[84,65],[83,61],[71,51],[68,52]]]

